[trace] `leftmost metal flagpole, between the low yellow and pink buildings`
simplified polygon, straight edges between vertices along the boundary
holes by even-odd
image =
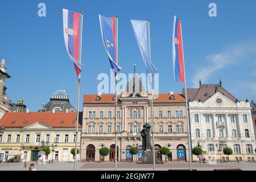
[[[81,13],[81,27],[80,27],[80,51],[79,51],[79,61],[81,63],[82,56],[82,17],[84,16],[84,12]],[[79,100],[80,100],[80,81],[81,81],[81,73],[77,76],[77,100],[76,100],[76,146],[75,146],[75,165],[74,171],[76,171],[76,160],[77,160],[77,138],[78,136],[78,125],[79,125]]]

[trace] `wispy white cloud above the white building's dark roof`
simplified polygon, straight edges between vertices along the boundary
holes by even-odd
[[[227,46],[220,53],[213,53],[205,57],[205,64],[197,69],[192,79],[193,86],[198,86],[198,81],[207,82],[208,78],[221,69],[243,61],[250,61],[248,57],[256,55],[256,40],[246,43]],[[254,58],[255,59],[255,58]],[[255,63],[255,62],[253,62]]]

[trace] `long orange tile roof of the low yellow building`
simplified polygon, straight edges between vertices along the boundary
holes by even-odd
[[[82,113],[79,113],[81,117]],[[26,127],[29,125],[32,125],[36,122],[42,122],[46,123],[49,126],[52,127],[75,127],[76,123],[72,123],[72,121],[75,121],[76,119],[76,113],[65,113],[65,112],[18,112],[18,113],[12,113],[7,112],[5,115],[3,115],[2,119],[0,120],[0,126],[4,127]],[[14,122],[15,121],[15,122]],[[27,121],[24,123],[24,121]],[[64,121],[61,123],[60,121]],[[79,123],[81,123],[81,119],[79,119]],[[79,127],[81,125],[79,124]]]

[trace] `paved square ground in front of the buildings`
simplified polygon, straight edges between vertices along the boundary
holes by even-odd
[[[24,167],[24,163],[0,163],[0,171],[28,171],[28,167],[31,162],[27,163],[27,167]],[[74,163],[50,163],[46,165],[35,164],[35,168],[38,171],[73,171]],[[118,163],[118,171],[152,171],[152,164],[136,164],[136,163]],[[188,169],[189,163],[168,163],[168,164],[156,164],[156,170],[167,171],[168,169]],[[192,169],[197,171],[213,171],[213,169],[225,169],[225,168],[241,168],[243,171],[256,171],[256,163],[217,163],[217,164],[203,164],[192,163]],[[77,171],[114,171],[114,163],[103,162],[77,162]]]

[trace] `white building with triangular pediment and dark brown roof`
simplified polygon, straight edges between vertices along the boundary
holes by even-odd
[[[255,160],[250,102],[238,101],[222,87],[221,81],[220,84],[200,81],[199,88],[187,89],[187,96],[192,147],[203,148],[207,159]],[[232,148],[233,154],[224,155],[224,147]]]

